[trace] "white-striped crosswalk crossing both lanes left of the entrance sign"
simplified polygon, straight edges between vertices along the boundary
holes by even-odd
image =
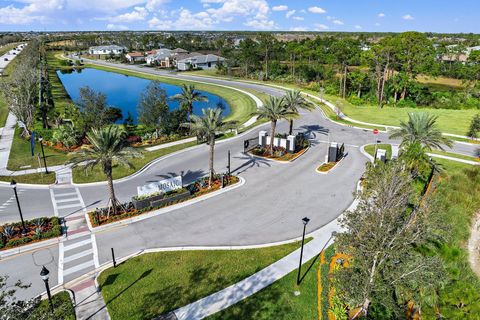
[[[58,283],[76,279],[99,267],[95,235],[88,229],[86,208],[74,186],[50,188],[55,215],[65,221],[66,238],[59,245]]]

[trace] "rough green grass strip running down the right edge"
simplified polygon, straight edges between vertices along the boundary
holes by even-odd
[[[445,230],[438,231],[443,241],[436,244],[435,252],[443,259],[448,277],[434,299],[435,308],[422,307],[422,314],[425,319],[436,319],[438,314],[444,319],[478,319],[480,280],[470,268],[466,241],[472,219],[480,209],[480,168],[442,159],[435,161],[444,171],[434,194],[434,214],[445,226]]]

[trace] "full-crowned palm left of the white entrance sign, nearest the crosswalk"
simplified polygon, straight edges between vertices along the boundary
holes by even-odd
[[[118,126],[109,126],[100,130],[92,129],[87,134],[91,145],[79,151],[72,159],[73,167],[84,164],[86,169],[97,165],[102,167],[103,173],[107,176],[109,206],[115,215],[117,213],[118,200],[115,197],[113,188],[112,169],[113,164],[118,163],[132,168],[129,158],[141,157],[135,149],[128,146],[123,131]],[[108,214],[110,214],[110,208]]]

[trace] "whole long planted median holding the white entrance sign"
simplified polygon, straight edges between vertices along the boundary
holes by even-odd
[[[203,177],[179,189],[152,193],[147,196],[135,196],[131,202],[119,206],[117,214],[110,214],[109,208],[91,211],[88,213],[89,222],[92,228],[98,228],[126,219],[141,218],[142,215],[145,215],[144,217],[147,218],[149,217],[148,214],[155,215],[160,209],[198,200],[201,197],[214,195],[222,190],[229,190],[231,187],[237,186],[241,181],[237,176],[217,175],[212,185],[208,186],[208,178]]]

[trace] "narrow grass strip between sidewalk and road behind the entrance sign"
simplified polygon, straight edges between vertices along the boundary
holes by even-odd
[[[114,165],[113,167],[113,178],[114,179],[120,179],[126,176],[129,176],[136,171],[140,170],[142,167],[144,167],[147,163],[160,158],[164,155],[167,155],[169,153],[183,150],[192,146],[195,146],[197,143],[196,142],[189,142],[189,143],[184,143],[184,144],[179,144],[176,146],[172,146],[169,148],[165,149],[160,149],[156,151],[144,151],[143,152],[143,158],[133,158],[130,159],[130,163],[133,165],[133,168],[127,168],[127,167],[122,167],[117,164]],[[143,150],[143,149],[141,149]],[[207,158],[204,159],[205,162],[208,160]],[[199,160],[201,161],[201,160]],[[83,167],[77,167],[73,169],[73,181],[75,183],[88,183],[88,182],[97,182],[97,181],[105,181],[105,175],[103,174],[101,167],[97,166],[93,168],[92,170],[87,170],[85,171],[85,168]]]

